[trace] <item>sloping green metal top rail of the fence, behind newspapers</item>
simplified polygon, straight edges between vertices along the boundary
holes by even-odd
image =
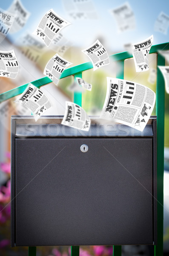
[[[155,52],[158,52],[161,50],[169,50],[169,43],[153,45],[151,47],[149,53],[155,53]],[[127,58],[132,58],[133,56],[129,52],[120,52],[120,53],[110,55],[110,57],[112,58],[112,61],[124,61]],[[93,68],[93,65],[92,65],[91,61],[74,66],[74,67],[70,67],[63,71],[63,73],[60,76],[60,79],[65,78],[67,76],[75,75],[77,73],[80,73],[80,72],[83,72],[83,71],[86,71],[86,70],[89,70],[92,68]],[[43,78],[33,81],[31,83],[34,84],[34,86],[40,88],[42,85],[52,83],[52,80],[49,77],[43,77]],[[1,93],[0,94],[0,102],[3,102],[7,99],[11,99],[12,97],[23,93],[23,91],[26,89],[27,86],[28,86],[28,84],[24,84],[17,88],[9,90],[5,93]]]

